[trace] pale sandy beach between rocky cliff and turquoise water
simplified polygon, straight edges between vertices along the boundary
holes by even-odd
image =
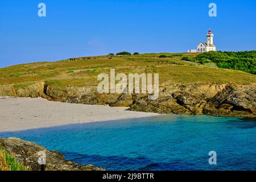
[[[43,98],[0,97],[0,132],[159,115],[126,109],[52,102]]]

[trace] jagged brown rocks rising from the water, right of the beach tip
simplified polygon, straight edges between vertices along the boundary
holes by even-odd
[[[129,110],[142,111],[146,107],[147,111],[158,113],[256,116],[255,85],[188,85],[178,88],[170,89],[167,96],[160,94],[156,101],[137,100]]]

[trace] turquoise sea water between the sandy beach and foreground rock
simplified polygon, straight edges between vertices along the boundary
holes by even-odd
[[[255,170],[256,122],[163,115],[0,133],[108,170]],[[209,151],[217,165],[209,165]]]

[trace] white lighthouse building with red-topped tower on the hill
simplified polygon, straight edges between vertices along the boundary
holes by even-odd
[[[216,51],[216,46],[213,44],[213,34],[212,31],[209,30],[207,34],[207,42],[200,42],[196,49],[189,49],[188,52],[209,52]]]

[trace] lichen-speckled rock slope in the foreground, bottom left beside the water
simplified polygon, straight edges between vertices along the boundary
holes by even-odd
[[[104,169],[92,165],[82,165],[65,160],[57,151],[49,151],[36,143],[27,142],[19,138],[0,138],[0,148],[14,156],[17,162],[22,163],[33,171],[102,171]],[[40,157],[46,158],[40,160]],[[45,164],[45,165],[44,165]]]

